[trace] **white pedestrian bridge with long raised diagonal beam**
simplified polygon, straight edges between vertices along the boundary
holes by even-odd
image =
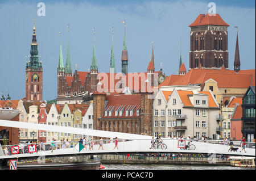
[[[234,148],[238,148],[237,151],[228,151],[229,146],[224,145],[220,140],[208,140],[207,142],[192,141],[195,145],[194,150],[185,150],[178,148],[179,140],[171,140],[163,138],[164,144],[167,145],[166,149],[150,149],[151,140],[150,136],[144,136],[139,134],[129,134],[129,133],[119,133],[119,132],[108,132],[108,131],[98,131],[93,129],[82,129],[82,128],[71,128],[71,127],[60,127],[45,124],[34,124],[34,123],[23,123],[18,121],[7,121],[0,120],[0,126],[5,127],[15,127],[15,128],[27,128],[27,129],[38,129],[44,131],[54,131],[54,132],[66,132],[72,134],[90,135],[98,137],[114,138],[118,137],[118,149],[115,148],[114,141],[104,140],[103,150],[99,150],[99,140],[95,140],[93,144],[93,149],[89,150],[89,146],[86,149],[79,150],[76,145],[78,142],[69,142],[67,148],[63,148],[61,142],[56,143],[56,148],[53,151],[49,150],[50,143],[44,143],[46,150],[38,150],[35,153],[27,153],[27,145],[20,145],[19,154],[11,154],[11,146],[2,146],[0,148],[0,159],[11,159],[11,158],[31,158],[40,156],[64,156],[64,155],[79,155],[79,154],[125,154],[125,153],[200,153],[200,154],[222,154],[222,155],[243,155],[243,156],[253,156],[255,157],[255,143],[246,142],[246,153],[244,151],[240,152],[241,146],[240,141],[234,141]],[[186,140],[184,140],[186,141]],[[63,149],[62,149],[63,148]],[[8,153],[5,154],[5,149]]]

